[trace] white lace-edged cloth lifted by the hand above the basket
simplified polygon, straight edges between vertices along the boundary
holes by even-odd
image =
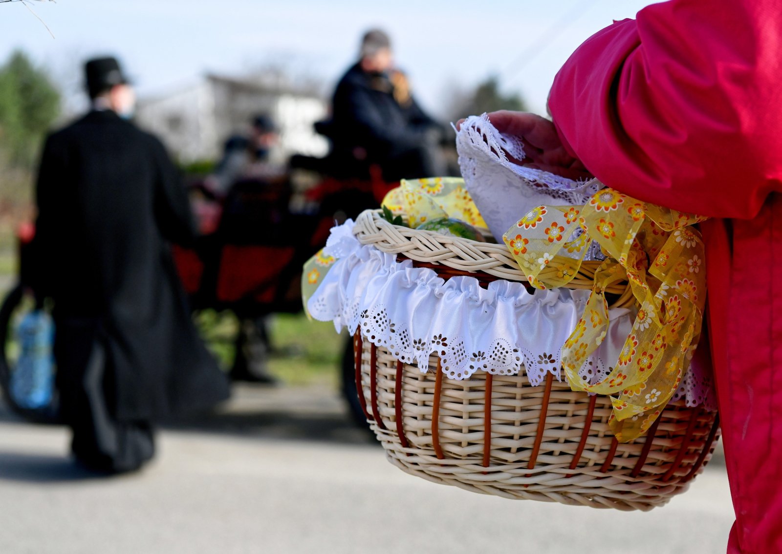
[[[505,152],[524,159],[522,141],[500,134],[485,113],[470,116],[461,124],[456,149],[465,186],[498,242],[535,206],[583,206],[587,198],[603,188],[597,179],[581,182],[512,163]],[[593,243],[586,259],[602,259],[597,256],[599,251]]]

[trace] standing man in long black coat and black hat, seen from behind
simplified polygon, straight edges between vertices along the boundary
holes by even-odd
[[[228,384],[193,327],[169,242],[195,237],[163,145],[126,118],[113,58],[86,66],[91,111],[50,135],[38,173],[36,293],[53,298],[57,385],[77,461],[135,470],[153,421],[206,409]]]

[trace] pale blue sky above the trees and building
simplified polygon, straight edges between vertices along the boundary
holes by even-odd
[[[284,60],[330,90],[363,30],[392,35],[397,64],[421,104],[441,113],[452,88],[490,73],[543,113],[557,69],[590,34],[633,17],[642,0],[59,0],[33,2],[56,39],[21,3],[0,5],[0,60],[24,48],[77,83],[89,55],[117,53],[141,95],[177,88],[205,70],[242,73]],[[554,27],[560,23],[559,30]],[[564,24],[564,25],[563,25]],[[521,57],[525,52],[533,56]],[[74,75],[76,77],[74,77]]]

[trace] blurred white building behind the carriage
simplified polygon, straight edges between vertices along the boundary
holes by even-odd
[[[181,163],[220,159],[224,141],[249,130],[265,113],[280,130],[272,159],[291,154],[325,155],[328,142],[312,125],[325,119],[328,103],[318,95],[256,80],[205,75],[189,87],[138,101],[136,121],[160,137]]]

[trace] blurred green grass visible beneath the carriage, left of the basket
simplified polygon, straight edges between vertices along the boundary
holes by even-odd
[[[210,350],[228,370],[235,356],[239,320],[230,312],[206,309],[196,316],[196,323]],[[268,360],[269,373],[282,384],[337,387],[346,338],[336,334],[332,323],[309,321],[303,313],[275,314],[269,331],[274,348]]]

